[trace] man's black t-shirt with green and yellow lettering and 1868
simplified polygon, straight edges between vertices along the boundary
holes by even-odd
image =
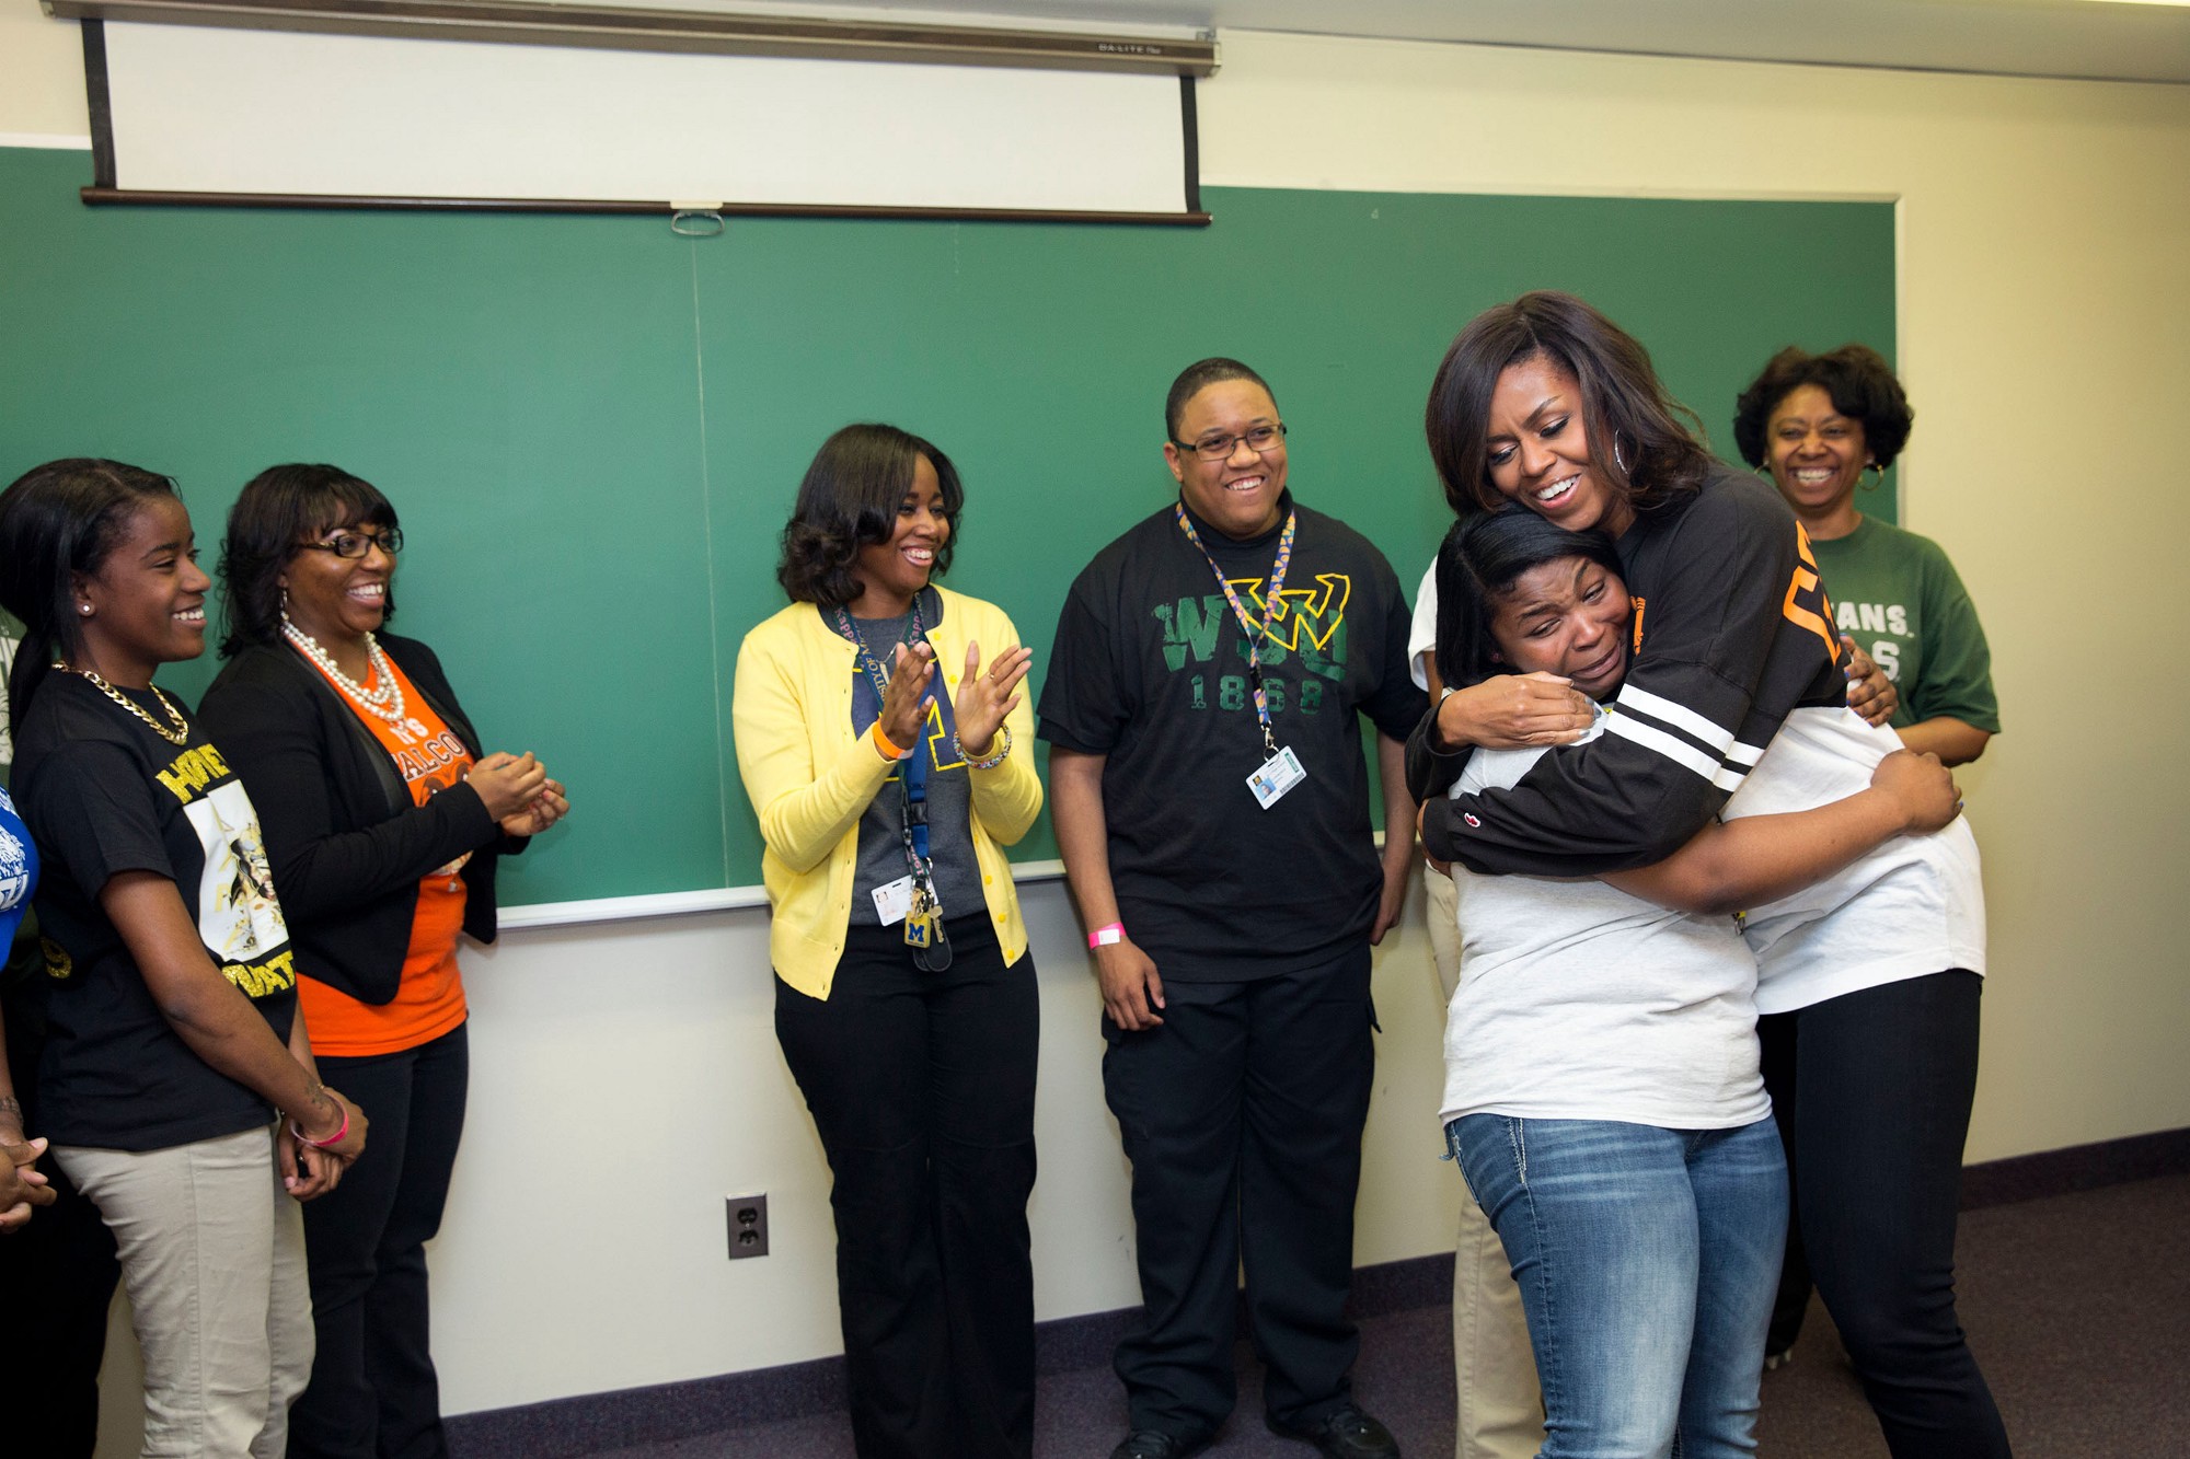
[[[1108,756],[1119,916],[1165,979],[1275,977],[1369,933],[1384,878],[1356,716],[1404,740],[1428,708],[1391,563],[1290,493],[1281,508],[1299,528],[1259,653],[1270,730],[1307,778],[1268,811],[1246,786],[1268,758],[1246,633],[1169,506],[1073,581],[1049,653],[1040,734]],[[1283,517],[1253,541],[1194,530],[1259,624]]]

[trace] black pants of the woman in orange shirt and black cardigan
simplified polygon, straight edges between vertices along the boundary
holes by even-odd
[[[320,1078],[372,1119],[366,1152],[304,1203],[320,1349],[289,1411],[289,1459],[442,1459],[425,1244],[464,1133],[464,1025],[401,1054],[322,1056]]]

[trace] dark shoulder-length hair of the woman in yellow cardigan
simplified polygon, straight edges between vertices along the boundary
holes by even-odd
[[[950,570],[957,548],[959,513],[966,489],[957,467],[933,443],[900,432],[896,425],[848,425],[815,451],[799,482],[799,499],[784,524],[784,554],[775,563],[775,581],[793,602],[843,607],[861,594],[852,561],[861,545],[889,541],[898,530],[898,506],[913,489],[913,464],[926,456],[935,467],[935,484],[944,493],[944,521],[950,535],[935,550],[933,574]]]

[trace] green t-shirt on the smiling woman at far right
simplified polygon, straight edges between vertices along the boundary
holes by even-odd
[[[1993,651],[1953,563],[1929,537],[1864,517],[1811,541],[1840,631],[1901,690],[1894,727],[1958,719],[1999,734]]]

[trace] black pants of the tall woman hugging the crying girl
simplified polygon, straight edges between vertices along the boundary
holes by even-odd
[[[1800,1220],[1789,1242],[1809,1255],[1894,1459],[2008,1452],[1953,1312],[1982,988],[1956,968],[1756,1023]]]

